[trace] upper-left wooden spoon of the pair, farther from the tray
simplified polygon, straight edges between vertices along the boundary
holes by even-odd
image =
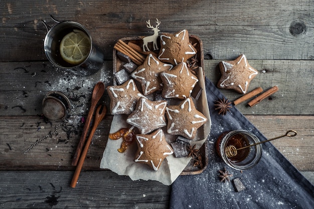
[[[87,135],[87,132],[88,132],[88,129],[90,126],[90,121],[93,117],[95,107],[96,107],[98,101],[100,100],[100,98],[102,97],[104,92],[105,92],[105,85],[103,82],[100,81],[94,87],[93,94],[92,94],[92,104],[90,106],[90,109],[89,109],[89,112],[88,112],[88,115],[87,115],[87,118],[85,121],[83,133],[82,133],[81,138],[80,138],[80,142],[77,145],[76,152],[73,156],[72,165],[77,165],[77,161],[79,160],[79,156],[80,156],[82,148],[84,146],[84,143],[86,140],[86,135]]]

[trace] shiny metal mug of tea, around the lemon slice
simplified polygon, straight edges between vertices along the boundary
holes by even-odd
[[[103,52],[92,42],[88,30],[81,24],[72,21],[57,21],[51,16],[57,24],[50,28],[45,21],[42,21],[47,29],[44,41],[44,50],[48,60],[56,67],[66,69],[77,75],[92,75],[101,69],[104,61]],[[73,30],[83,31],[90,40],[91,47],[86,59],[78,65],[72,65],[64,61],[60,55],[60,43],[65,35]]]

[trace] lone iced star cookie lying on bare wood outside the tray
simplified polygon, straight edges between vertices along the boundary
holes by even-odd
[[[233,89],[240,94],[246,94],[251,80],[258,74],[246,60],[245,55],[240,55],[234,61],[219,63],[221,78],[217,86],[222,89]]]

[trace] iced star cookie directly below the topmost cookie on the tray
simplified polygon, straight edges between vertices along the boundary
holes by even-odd
[[[186,99],[199,81],[187,67],[187,63],[180,63],[172,70],[162,72],[160,76],[164,84],[164,98]]]

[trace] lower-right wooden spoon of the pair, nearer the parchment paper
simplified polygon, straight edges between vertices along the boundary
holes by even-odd
[[[75,169],[75,172],[74,172],[74,175],[73,175],[73,178],[72,178],[72,181],[71,181],[71,184],[70,186],[72,188],[74,188],[76,186],[76,182],[78,180],[78,177],[80,175],[80,172],[82,170],[82,166],[84,164],[84,160],[86,158],[86,154],[87,154],[87,151],[88,151],[88,148],[89,148],[89,145],[90,145],[90,142],[93,138],[93,135],[100,123],[100,121],[105,117],[106,115],[106,112],[107,112],[107,108],[106,106],[103,106],[103,109],[101,110],[101,105],[98,106],[97,110],[96,110],[96,113],[95,113],[95,122],[94,122],[94,125],[92,127],[92,130],[90,131],[90,134],[89,134],[89,137],[86,141],[86,144],[85,144],[85,147],[83,149],[83,152],[80,156],[80,160],[78,161],[78,164],[76,166],[76,169]]]

